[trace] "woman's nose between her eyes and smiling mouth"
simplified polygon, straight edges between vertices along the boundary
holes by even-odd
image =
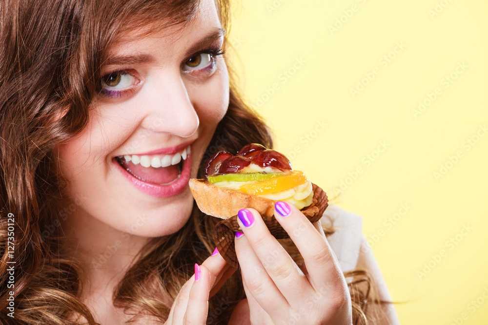
[[[181,76],[160,75],[152,87],[146,89],[144,110],[147,114],[142,121],[143,128],[183,138],[197,131],[200,121]]]

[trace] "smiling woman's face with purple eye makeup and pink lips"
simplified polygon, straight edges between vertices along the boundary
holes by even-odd
[[[144,237],[183,227],[188,180],[228,106],[223,39],[214,1],[202,0],[188,28],[134,32],[111,49],[87,127],[56,148],[74,217]]]

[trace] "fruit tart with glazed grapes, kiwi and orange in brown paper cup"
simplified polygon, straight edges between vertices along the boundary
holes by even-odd
[[[226,151],[213,154],[205,166],[204,179],[190,179],[190,190],[203,213],[225,219],[214,231],[214,242],[224,259],[238,268],[234,232],[241,228],[237,213],[256,209],[277,238],[288,234],[274,218],[274,203],[295,205],[310,222],[316,222],[328,206],[327,195],[301,171],[292,170],[284,154],[256,143],[245,145],[235,155]]]

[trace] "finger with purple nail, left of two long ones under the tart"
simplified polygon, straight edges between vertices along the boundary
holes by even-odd
[[[258,260],[288,303],[295,305],[305,299],[313,288],[283,246],[269,233],[258,211],[240,210],[238,222]],[[247,263],[245,259],[240,261]]]

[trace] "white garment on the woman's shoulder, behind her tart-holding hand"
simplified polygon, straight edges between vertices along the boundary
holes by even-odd
[[[358,264],[361,240],[363,238],[363,219],[354,213],[329,205],[324,212],[322,223],[329,216],[335,232],[327,236],[327,241],[339,260],[343,272],[354,270]]]

